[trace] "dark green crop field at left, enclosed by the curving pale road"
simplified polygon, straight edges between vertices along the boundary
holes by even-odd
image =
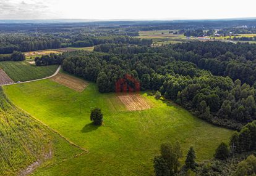
[[[14,82],[17,82],[50,76],[57,70],[58,65],[35,66],[27,61],[4,61],[0,62],[0,68],[2,68]]]

